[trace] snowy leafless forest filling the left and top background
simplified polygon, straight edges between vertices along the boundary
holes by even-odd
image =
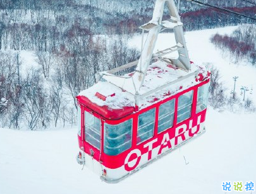
[[[256,9],[240,0],[203,2],[248,15]],[[94,84],[95,72],[138,59],[126,43],[153,8],[154,0],[0,0],[0,127],[73,125],[75,97]],[[243,22],[188,1],[180,13],[185,30]],[[34,52],[40,68],[21,73],[21,50]]]

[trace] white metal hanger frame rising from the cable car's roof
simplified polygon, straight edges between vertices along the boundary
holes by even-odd
[[[169,10],[169,20],[162,21],[162,14],[164,11],[164,5],[167,5]],[[140,59],[126,64],[121,67],[117,67],[107,72],[101,72],[97,74],[97,80],[101,77],[112,83],[119,88],[122,88],[132,94],[139,93],[141,86],[143,85],[145,75],[147,74],[147,69],[152,62],[152,59],[164,59],[162,55],[169,54],[171,52],[178,52],[178,59],[168,59],[171,64],[174,66],[183,69],[185,71],[190,71],[190,60],[188,57],[188,50],[186,48],[185,37],[183,33],[183,24],[181,23],[180,16],[178,14],[178,10],[174,4],[174,0],[156,0],[155,1],[155,8],[152,20],[145,25],[140,26],[142,29],[142,54]],[[166,48],[160,52],[153,54],[155,43],[157,41],[158,34],[163,29],[173,29],[174,36],[176,40],[176,45],[170,48]],[[147,39],[145,43],[143,41],[144,31],[148,31]],[[116,76],[116,79],[113,79],[113,75],[115,72],[127,69],[129,67],[136,66],[136,71],[134,72],[133,76]],[[133,86],[133,88],[131,88]]]

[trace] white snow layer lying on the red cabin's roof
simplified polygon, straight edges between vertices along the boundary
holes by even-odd
[[[164,100],[164,98],[168,98],[170,94],[176,94],[198,84],[195,80],[195,76],[198,75],[197,71],[204,73],[204,77],[207,75],[203,68],[195,65],[192,66],[189,72],[186,72],[166,62],[157,61],[152,63],[147,70],[147,76],[145,76],[143,86],[140,88],[138,107],[140,109],[145,108],[146,106],[152,105],[152,102]],[[197,72],[197,74],[193,76],[193,72]],[[145,96],[145,94],[150,93],[150,91],[173,81],[177,81],[188,74],[192,74],[192,76]],[[125,76],[132,76],[132,73],[126,74]],[[167,93],[168,95],[166,95]],[[81,91],[78,96],[85,96],[97,106],[107,106],[113,110],[120,110],[124,107],[135,107],[135,96],[133,94],[106,81],[99,81],[92,87]]]

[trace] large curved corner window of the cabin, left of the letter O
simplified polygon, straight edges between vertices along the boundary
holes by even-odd
[[[116,156],[131,147],[132,120],[118,125],[104,124],[104,152]]]

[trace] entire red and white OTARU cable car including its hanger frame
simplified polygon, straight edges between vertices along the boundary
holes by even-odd
[[[170,18],[162,21],[165,3]],[[156,0],[152,20],[140,28],[140,59],[99,72],[97,83],[76,97],[77,161],[107,183],[123,180],[205,132],[210,73],[190,62],[174,1]],[[176,45],[153,54],[165,29],[173,30]],[[178,58],[164,57],[172,52]],[[116,76],[133,66],[135,71]]]

